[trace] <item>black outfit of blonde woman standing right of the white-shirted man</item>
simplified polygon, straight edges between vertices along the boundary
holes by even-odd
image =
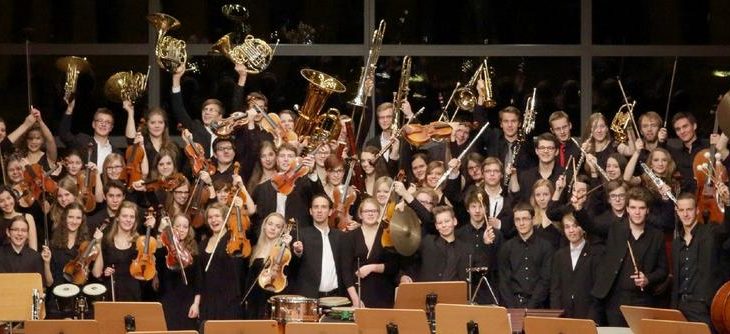
[[[360,259],[360,266],[366,264],[382,263],[385,268],[383,273],[371,272],[365,278],[360,279],[362,285],[360,297],[367,307],[392,308],[395,299],[395,276],[398,273],[397,254],[387,251],[380,243],[383,235],[383,226],[378,228],[375,234],[370,254],[365,243],[365,236],[362,228],[345,233],[342,244],[342,281],[345,288],[357,288],[357,260]]]

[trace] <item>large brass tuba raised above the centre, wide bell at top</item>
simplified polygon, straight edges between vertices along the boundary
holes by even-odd
[[[299,135],[299,138],[302,138],[314,134],[314,130],[322,121],[319,112],[327,98],[332,93],[344,93],[345,85],[334,77],[320,71],[303,69],[300,73],[309,81],[307,97],[299,110],[299,118],[294,124],[294,132]]]

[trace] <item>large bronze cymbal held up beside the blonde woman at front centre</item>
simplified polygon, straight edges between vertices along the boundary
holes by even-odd
[[[421,245],[421,221],[413,209],[405,206],[403,211],[395,210],[390,222],[390,238],[395,250],[403,256],[411,256],[418,250]]]

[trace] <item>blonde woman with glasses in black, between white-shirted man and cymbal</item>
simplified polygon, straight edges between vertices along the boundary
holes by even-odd
[[[398,255],[380,242],[384,228],[378,221],[380,204],[372,197],[364,199],[358,217],[361,225],[346,233],[342,243],[342,282],[353,306],[392,308]]]

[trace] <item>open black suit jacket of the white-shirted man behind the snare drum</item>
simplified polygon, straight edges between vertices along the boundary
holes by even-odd
[[[327,237],[332,247],[337,271],[337,295],[346,296],[341,265],[342,242],[345,235],[340,230],[330,229]],[[319,283],[322,280],[322,233],[314,226],[301,227],[299,238],[304,245],[304,252],[301,257],[292,255],[294,281],[292,292],[309,298],[318,298]]]

